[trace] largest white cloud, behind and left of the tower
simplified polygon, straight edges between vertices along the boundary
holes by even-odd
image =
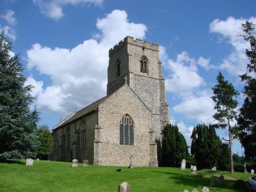
[[[112,31],[110,25],[119,27]],[[28,68],[52,79],[52,84],[38,94],[40,108],[70,113],[74,106],[82,108],[104,96],[109,49],[126,35],[144,38],[146,32],[146,26],[129,23],[126,12],[120,10],[98,19],[96,26],[101,32],[99,42],[88,39],[73,49],[34,44],[27,50]],[[115,37],[110,38],[110,34]]]

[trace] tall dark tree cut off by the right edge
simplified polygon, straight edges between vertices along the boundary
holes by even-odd
[[[245,41],[249,42],[249,49],[246,49],[247,63],[246,73],[240,78],[246,84],[243,94],[245,96],[240,114],[238,116],[237,136],[245,150],[247,160],[256,161],[256,32],[255,25],[246,22],[242,24],[244,32],[241,35]]]

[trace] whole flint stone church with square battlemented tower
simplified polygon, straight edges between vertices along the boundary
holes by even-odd
[[[53,127],[51,160],[158,166],[168,122],[159,46],[126,36],[109,50],[106,96]]]

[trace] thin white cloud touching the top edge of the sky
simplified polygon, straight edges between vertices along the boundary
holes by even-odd
[[[76,5],[90,5],[94,4],[100,6],[104,0],[33,0],[34,5],[38,6],[41,13],[47,17],[58,20],[64,13],[62,12],[62,6],[71,4]]]

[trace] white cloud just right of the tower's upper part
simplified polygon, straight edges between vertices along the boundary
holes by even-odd
[[[169,72],[166,91],[187,92],[205,84],[204,79],[197,73],[196,60],[190,58],[185,51],[178,54],[176,60],[169,59],[164,67]]]

